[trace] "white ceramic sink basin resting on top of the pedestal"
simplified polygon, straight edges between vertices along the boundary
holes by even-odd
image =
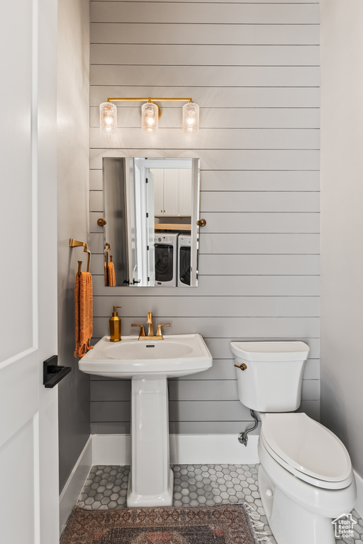
[[[211,353],[200,334],[169,334],[157,341],[123,336],[116,343],[104,336],[79,360],[82,372],[108,378],[172,378],[201,372],[211,365]]]

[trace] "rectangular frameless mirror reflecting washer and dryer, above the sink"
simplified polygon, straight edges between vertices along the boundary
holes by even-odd
[[[198,285],[199,159],[103,159],[105,285]]]

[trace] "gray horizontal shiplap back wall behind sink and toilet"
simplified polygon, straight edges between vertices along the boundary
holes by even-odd
[[[230,341],[301,339],[311,347],[301,410],[319,416],[319,6],[313,0],[91,0],[91,272],[94,340],[113,305],[132,322],[200,332],[213,368],[169,380],[170,431],[239,433]],[[201,130],[181,132],[181,104],[162,103],[160,130],[118,106],[118,131],[99,132],[108,96],[192,96]],[[102,157],[199,157],[199,287],[105,288]],[[130,382],[91,378],[94,433],[130,432]]]

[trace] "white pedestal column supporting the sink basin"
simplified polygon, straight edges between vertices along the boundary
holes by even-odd
[[[131,381],[128,506],[172,506],[167,378]]]

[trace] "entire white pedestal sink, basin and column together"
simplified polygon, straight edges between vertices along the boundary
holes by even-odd
[[[104,336],[79,360],[87,374],[131,378],[131,471],[128,506],[171,506],[167,378],[202,372],[212,356],[200,334],[170,334],[163,340]]]

